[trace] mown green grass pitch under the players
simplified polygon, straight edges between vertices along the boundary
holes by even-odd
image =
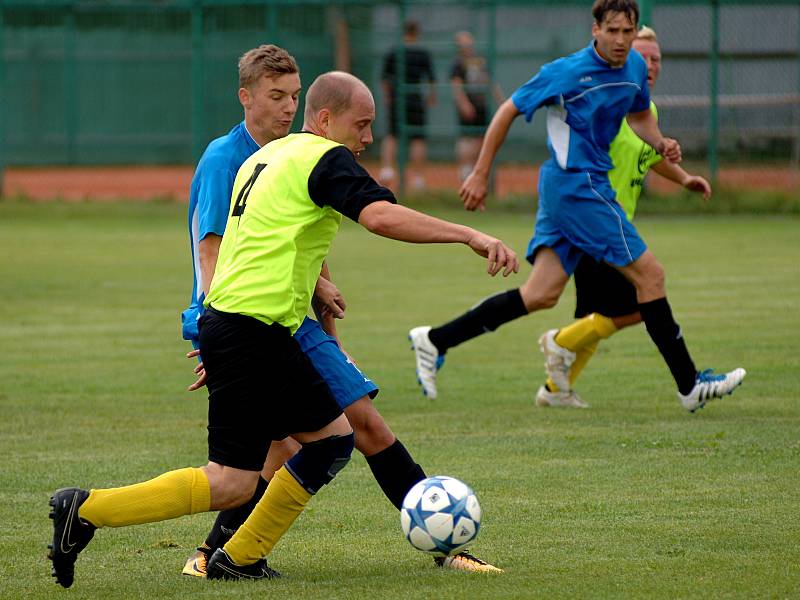
[[[532,217],[438,214],[523,252]],[[640,229],[698,367],[747,368],[696,415],[643,328],[600,346],[589,410],[537,409],[536,339],[562,304],[452,350],[421,396],[405,336],[494,291],[461,247],[402,245],[345,223],[331,271],[345,346],[428,474],[484,509],[472,550],[500,576],[443,572],[402,538],[363,457],[270,558],[279,581],[182,577],[213,515],[97,533],[70,590],[45,559],[57,487],[109,487],[205,462],[205,396],[179,314],[190,291],[185,207],[0,203],[0,597],[783,598],[800,590],[800,238],[796,217],[648,217]]]

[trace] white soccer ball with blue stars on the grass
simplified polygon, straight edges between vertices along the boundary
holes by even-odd
[[[455,554],[478,535],[481,506],[464,482],[444,475],[428,477],[406,494],[400,525],[417,550]]]

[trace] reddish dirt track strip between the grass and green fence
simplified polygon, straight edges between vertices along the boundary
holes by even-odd
[[[367,163],[365,166],[373,176],[377,175],[378,165]],[[193,173],[194,167],[188,166],[9,168],[3,176],[2,195],[34,200],[172,198],[185,202]],[[495,180],[497,195],[533,195],[537,179],[535,166],[499,167]],[[458,189],[456,167],[432,164],[427,168],[426,181],[431,191],[455,191]],[[719,181],[724,187],[739,190],[792,192],[800,189],[800,171],[774,167],[723,169]],[[661,194],[680,189],[660,177],[651,177],[648,184],[650,190]]]

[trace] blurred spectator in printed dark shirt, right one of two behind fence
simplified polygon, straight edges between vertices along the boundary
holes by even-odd
[[[463,182],[472,171],[489,124],[489,94],[496,104],[503,102],[503,92],[492,84],[486,59],[475,52],[475,41],[468,31],[455,35],[458,56],[450,70],[453,99],[458,114],[459,136],[456,141],[458,174]]]

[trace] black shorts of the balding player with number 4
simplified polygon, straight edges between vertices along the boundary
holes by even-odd
[[[208,459],[260,471],[272,440],[317,431],[342,414],[290,331],[209,309],[200,321],[208,374]]]

